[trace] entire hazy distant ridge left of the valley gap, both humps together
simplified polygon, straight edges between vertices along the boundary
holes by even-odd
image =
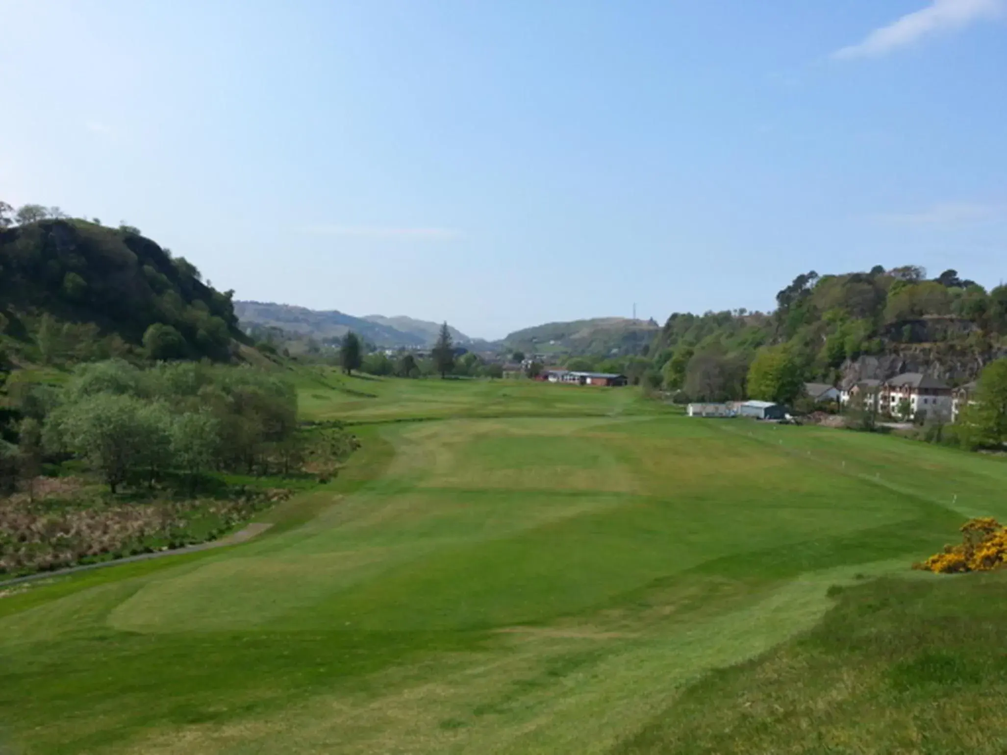
[[[431,346],[437,340],[440,324],[399,315],[368,315],[355,317],[336,309],[314,310],[291,304],[273,302],[236,301],[235,313],[243,327],[277,327],[291,333],[307,335],[320,340],[341,338],[350,330],[366,341],[385,348]],[[474,339],[449,326],[451,337],[457,344],[474,342]]]

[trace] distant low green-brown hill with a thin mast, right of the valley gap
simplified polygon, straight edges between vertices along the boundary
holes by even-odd
[[[517,330],[502,342],[508,349],[522,351],[623,356],[640,353],[660,330],[654,320],[596,317]]]

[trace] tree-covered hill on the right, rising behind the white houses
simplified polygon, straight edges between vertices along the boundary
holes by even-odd
[[[1007,286],[987,291],[954,270],[933,279],[914,266],[810,272],[776,305],[673,314],[649,349],[652,368],[690,398],[734,399],[751,394],[760,353],[800,379],[847,384],[903,371],[964,383],[1007,353]]]

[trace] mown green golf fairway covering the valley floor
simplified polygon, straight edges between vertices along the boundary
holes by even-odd
[[[358,423],[363,447],[266,535],[0,599],[0,751],[914,752],[816,750],[793,694],[776,742],[718,701],[807,682],[774,658],[841,685],[863,591],[923,601],[951,583],[913,561],[1007,518],[1007,464],[920,443],[691,420],[632,389],[298,381],[305,418]],[[885,575],[835,607],[831,586]],[[889,660],[915,678],[844,657],[865,689]]]

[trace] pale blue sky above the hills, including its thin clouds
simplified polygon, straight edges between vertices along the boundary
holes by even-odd
[[[1007,262],[1007,0],[0,0],[0,198],[239,298],[448,320],[772,306]]]

